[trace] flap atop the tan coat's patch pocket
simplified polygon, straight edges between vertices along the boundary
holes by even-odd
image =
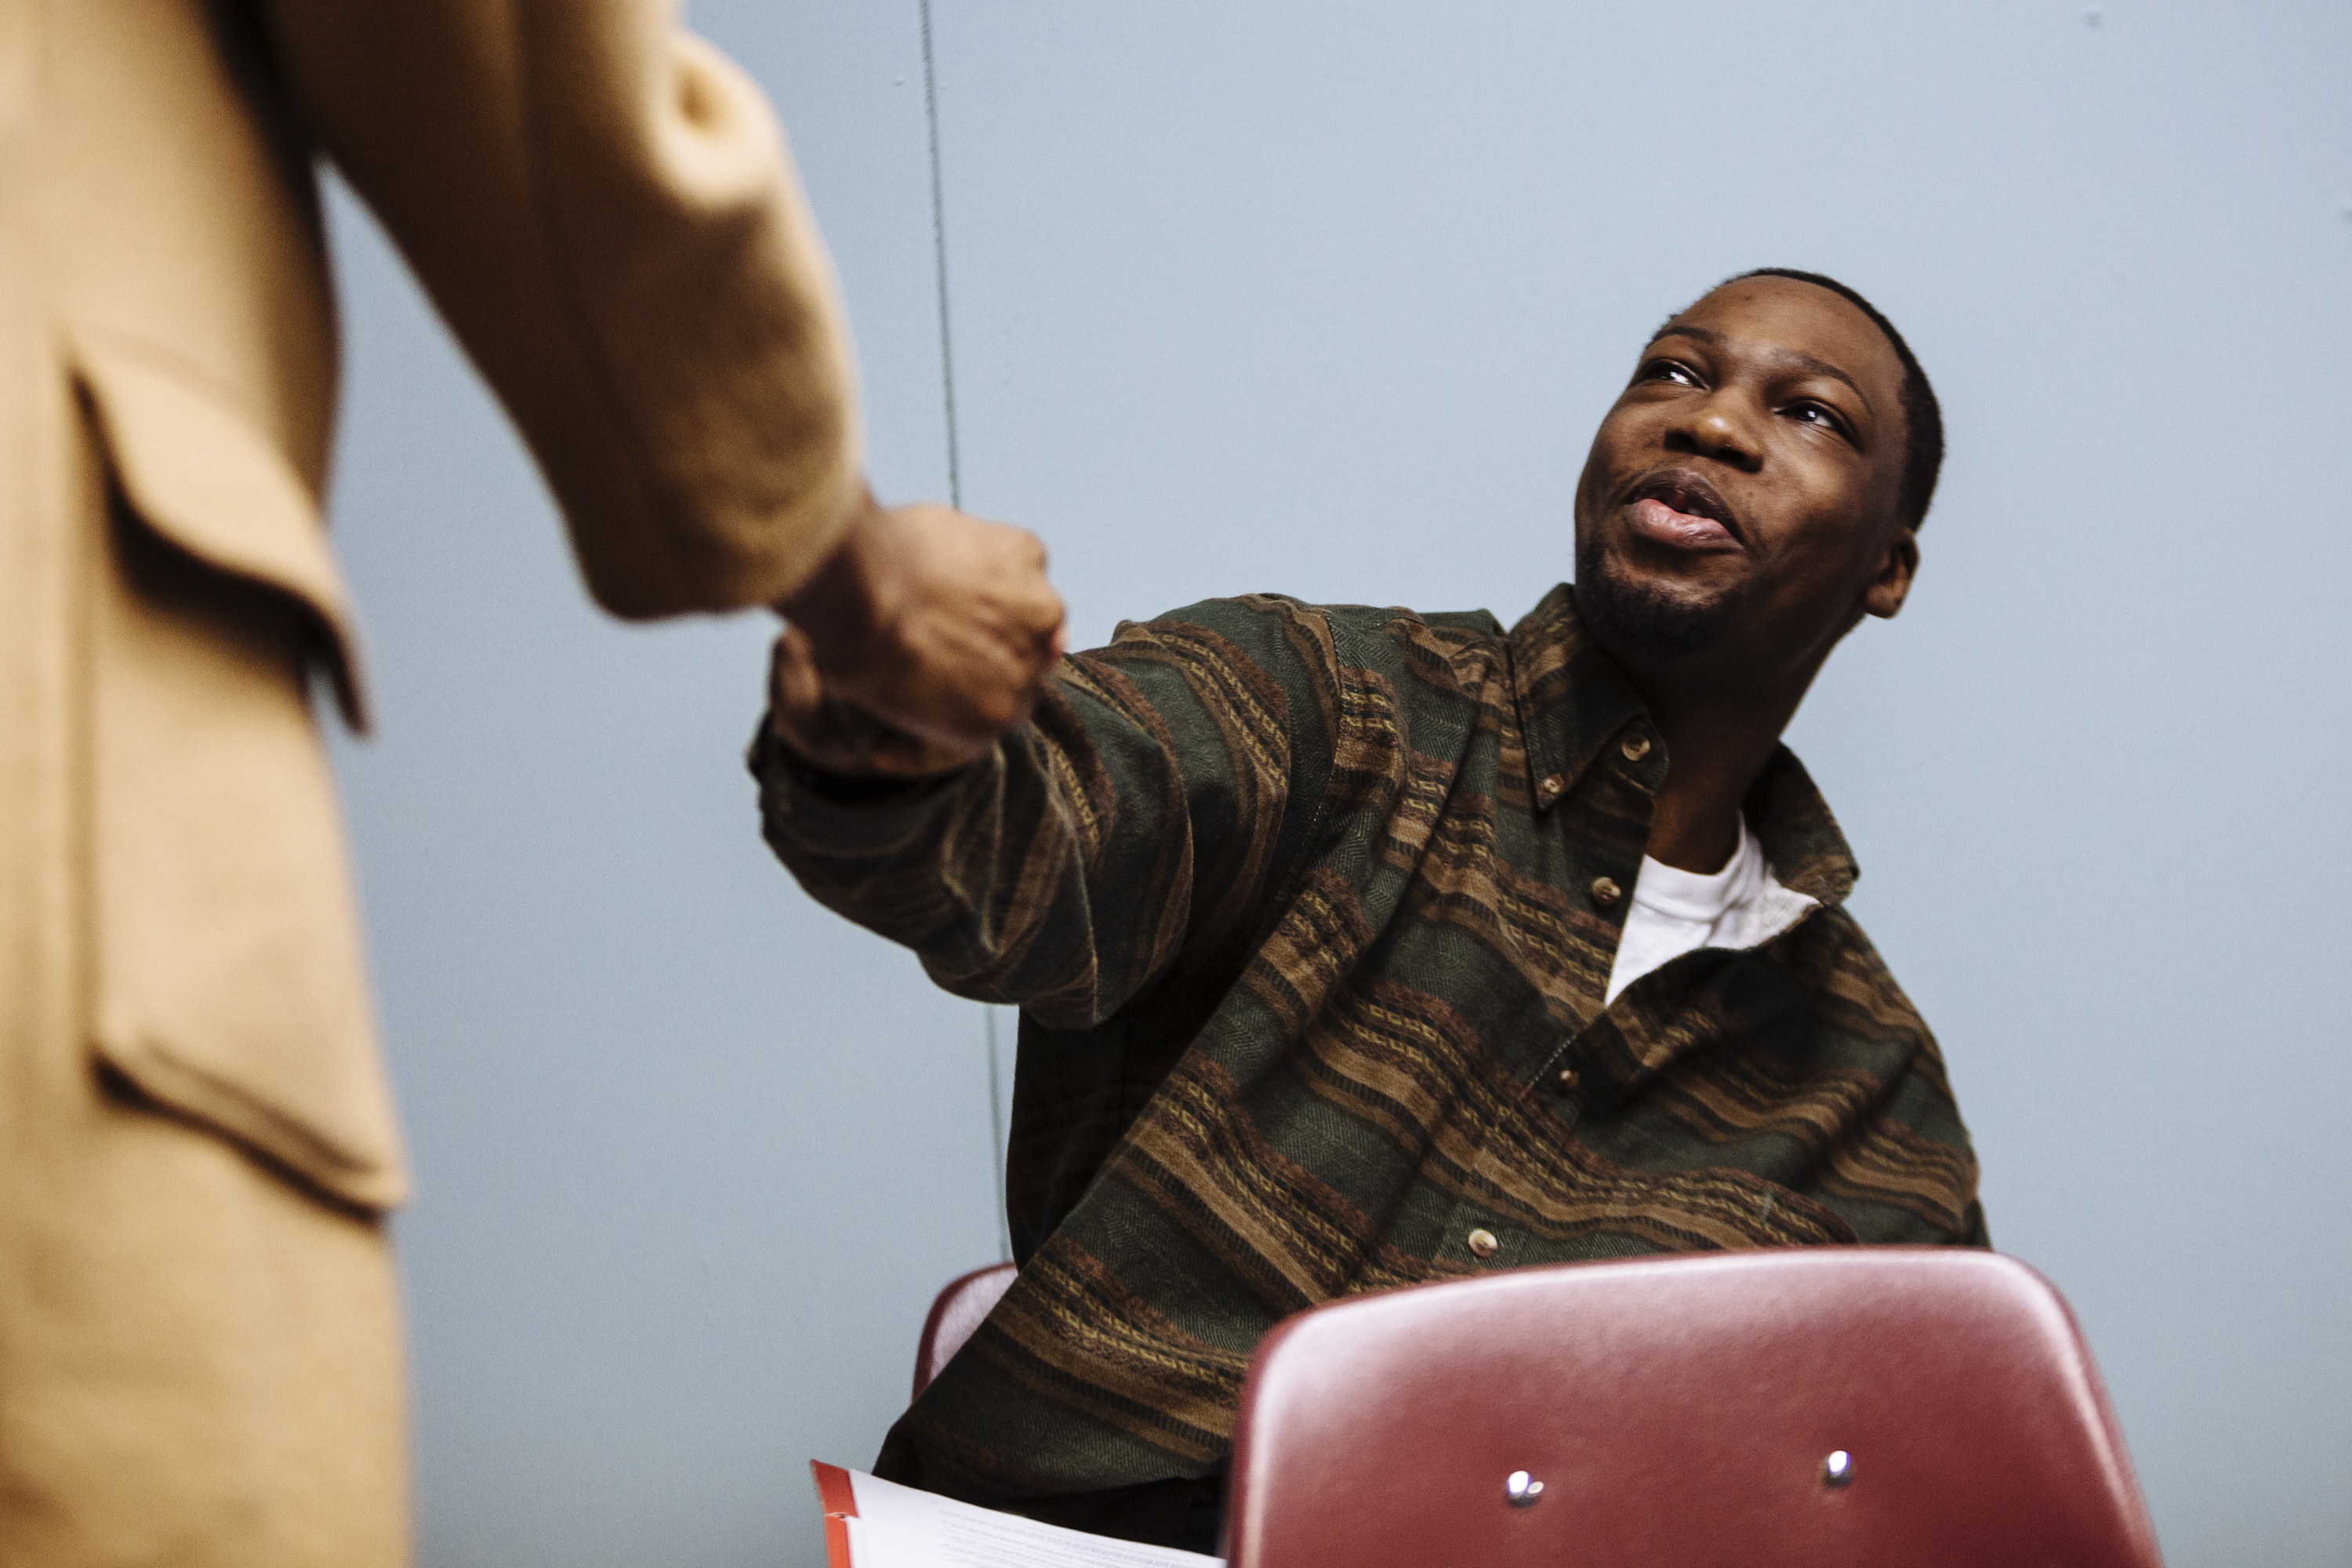
[[[75,346],[78,381],[132,510],[200,562],[299,599],[318,623],[336,705],[367,729],[360,649],[318,498],[221,393],[160,353]]]

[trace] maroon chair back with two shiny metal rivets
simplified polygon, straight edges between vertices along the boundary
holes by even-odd
[[[1232,1568],[2161,1568],[2058,1293],[1959,1248],[1519,1269],[1277,1326]]]

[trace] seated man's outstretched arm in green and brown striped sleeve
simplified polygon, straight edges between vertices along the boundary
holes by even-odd
[[[1197,604],[1063,661],[1025,724],[955,757],[875,726],[786,637],[753,745],[767,839],[943,987],[1087,1027],[1247,936],[1329,778],[1334,670],[1315,611]]]

